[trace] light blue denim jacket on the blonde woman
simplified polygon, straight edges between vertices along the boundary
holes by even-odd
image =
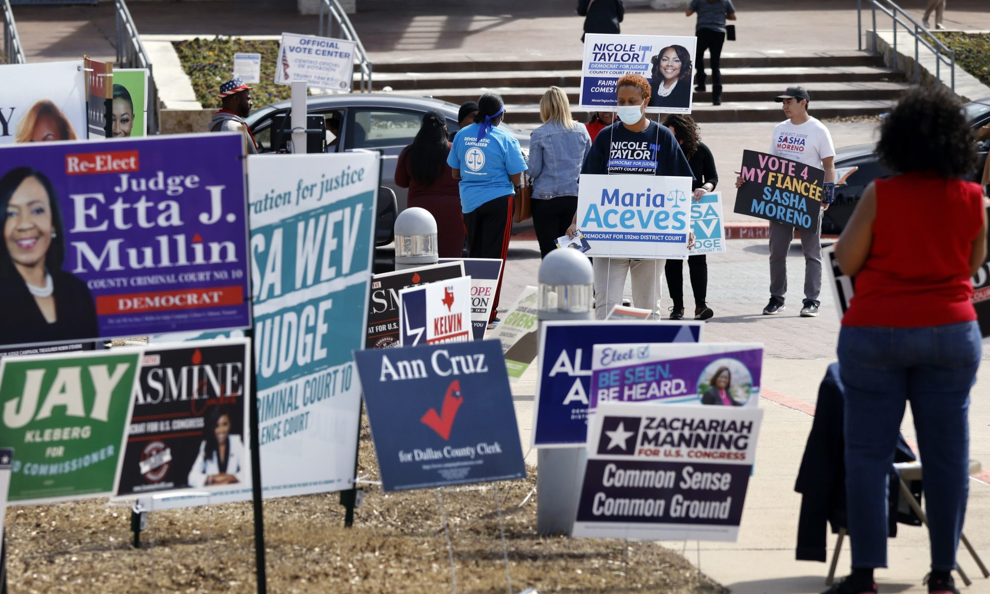
[[[577,196],[577,178],[590,149],[591,137],[581,124],[567,129],[548,122],[534,130],[528,171],[533,178],[533,197]]]

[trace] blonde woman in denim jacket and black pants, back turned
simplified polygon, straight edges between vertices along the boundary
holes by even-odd
[[[577,212],[577,178],[591,149],[588,130],[570,115],[567,94],[560,87],[546,89],[540,100],[544,125],[530,137],[533,178],[533,228],[544,257],[566,235]]]

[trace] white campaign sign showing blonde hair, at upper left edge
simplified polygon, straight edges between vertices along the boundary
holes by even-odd
[[[0,65],[0,80],[0,145],[86,139],[81,59]]]

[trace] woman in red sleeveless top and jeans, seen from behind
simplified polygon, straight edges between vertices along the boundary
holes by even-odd
[[[842,318],[845,491],[852,575],[831,593],[874,593],[887,566],[887,473],[911,403],[932,546],[929,592],[958,594],[949,571],[965,516],[969,389],[980,361],[970,276],[986,257],[983,192],[962,105],[916,88],[882,127],[878,151],[898,174],[874,180],[836,257],[855,276]]]

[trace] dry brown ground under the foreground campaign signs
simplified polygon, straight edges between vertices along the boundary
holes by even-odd
[[[366,422],[358,476],[378,478]],[[536,536],[536,469],[498,488],[445,491],[456,592],[507,592],[496,497],[512,591],[728,592],[675,552],[648,542]],[[264,503],[268,591],[436,594],[454,591],[438,491],[384,493],[364,485],[354,527],[340,495]],[[524,503],[525,501],[525,503]],[[522,504],[522,505],[521,505]],[[130,510],[92,500],[7,510],[12,594],[254,592],[249,503],[152,512],[142,548]],[[693,544],[692,544],[693,545]]]

